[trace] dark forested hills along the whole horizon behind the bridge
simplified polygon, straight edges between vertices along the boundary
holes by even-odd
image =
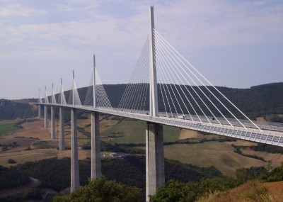
[[[108,98],[110,99],[112,107],[116,108],[120,103],[127,84],[106,84],[103,86],[106,93],[108,94]],[[160,86],[158,86],[158,89],[159,88]],[[185,89],[185,86],[182,86],[182,88]],[[199,93],[200,89],[207,91],[204,86],[200,86],[200,89],[198,89],[196,86],[193,86],[193,88]],[[216,90],[211,86],[209,86],[208,88],[210,91],[216,93]],[[250,89],[231,89],[221,86],[217,86],[217,89],[219,89],[222,94],[224,94],[241,111],[243,111],[243,113],[246,113],[248,117],[255,119],[259,116],[266,116],[267,120],[274,122],[283,122],[283,118],[274,116],[277,114],[283,114],[283,82],[252,86],[250,87]],[[83,103],[86,98],[87,90],[87,87],[79,89],[81,103]],[[69,93],[70,91],[65,91],[67,101],[69,99]],[[198,99],[197,96],[195,97],[196,100],[201,103],[200,99]],[[202,93],[200,93],[200,97],[204,99]],[[159,111],[165,111],[163,107],[164,105],[161,101],[162,99],[160,91],[158,91],[158,98]],[[185,97],[183,99],[185,99]],[[214,100],[213,97],[211,97],[210,99],[212,99],[212,101]],[[224,104],[229,106],[229,103],[227,103],[225,99],[220,99],[224,102]],[[149,103],[149,101],[146,101],[146,103]],[[193,102],[192,105],[194,105]],[[211,103],[208,102],[207,105],[213,108]],[[194,107],[197,108],[196,105]],[[217,107],[221,108],[220,104]],[[148,109],[149,104],[146,104],[145,108]],[[189,106],[187,106],[187,108],[190,109]],[[238,118],[241,118],[241,114],[237,113],[234,108],[230,109],[233,113],[236,113],[236,116],[238,116]],[[204,112],[206,111],[204,110]],[[200,111],[197,111],[197,113],[200,113]],[[28,103],[17,103],[14,101],[0,99],[0,119],[13,119],[17,117],[26,118],[35,116],[35,114],[36,112],[32,110],[32,106],[28,105]],[[216,114],[216,116],[219,116],[219,113],[217,111],[214,111],[214,114]],[[225,112],[224,115],[229,116],[229,114],[225,114]]]

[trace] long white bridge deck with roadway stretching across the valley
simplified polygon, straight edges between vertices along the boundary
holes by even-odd
[[[127,118],[134,118],[137,120],[144,120],[151,123],[160,123],[163,125],[171,125],[178,128],[185,128],[190,130],[197,130],[205,133],[212,133],[216,135],[224,135],[226,137],[238,138],[241,140],[249,140],[252,142],[260,142],[268,145],[276,145],[283,147],[283,125],[280,124],[258,124],[261,130],[255,128],[255,126],[248,122],[243,122],[246,128],[238,123],[238,121],[231,120],[233,125],[224,124],[224,119],[217,118],[221,124],[216,122],[216,120],[208,122],[207,118],[202,117],[200,120],[190,120],[184,118],[173,118],[166,117],[165,113],[161,113],[161,116],[153,117],[149,116],[147,111],[125,111],[122,109],[114,108],[114,110],[109,110],[108,108],[93,108],[93,106],[79,106],[70,104],[55,104],[55,103],[35,103],[39,105],[46,106],[63,106],[66,108],[78,108],[86,111],[97,111],[100,113],[107,113],[115,116],[123,116]],[[188,118],[186,116],[185,118]]]

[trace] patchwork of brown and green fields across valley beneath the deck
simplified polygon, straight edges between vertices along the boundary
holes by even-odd
[[[144,143],[146,123],[140,120],[125,120],[113,118],[112,116],[100,117],[100,138],[110,144],[115,143]],[[13,125],[18,120],[1,120],[0,126]],[[91,132],[91,120],[78,120],[78,126],[83,128],[86,133]],[[21,124],[23,129],[14,131],[11,135],[2,136],[1,144],[9,145],[17,142],[17,146],[8,148],[7,151],[0,152],[0,164],[9,166],[9,157],[17,163],[30,160],[45,159],[50,157],[69,157],[70,150],[59,151],[59,125],[57,123],[56,139],[50,140],[50,128],[44,128],[43,120]],[[6,127],[6,126],[5,126]],[[89,135],[78,131],[79,146],[90,142]],[[180,130],[179,128],[163,126],[164,142],[174,142],[179,139],[189,139],[197,142],[201,139],[211,140],[212,138],[224,138],[219,135],[204,135],[192,130]],[[178,160],[187,164],[194,164],[200,167],[214,166],[224,174],[231,174],[241,167],[260,167],[268,163],[259,159],[244,157],[234,152],[233,145],[257,145],[255,142],[237,140],[233,142],[203,142],[196,144],[173,144],[164,146],[164,155],[167,159]],[[69,125],[65,125],[65,145],[71,145],[71,130]],[[145,149],[144,147],[136,147]],[[272,166],[276,167],[283,159],[283,155],[270,154],[267,152],[255,152],[253,150],[243,150],[248,155],[263,157],[266,161],[270,160]],[[79,158],[89,157],[89,150],[79,150]]]

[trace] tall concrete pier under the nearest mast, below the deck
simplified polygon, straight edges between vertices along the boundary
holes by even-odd
[[[165,182],[163,125],[146,123],[146,201]]]

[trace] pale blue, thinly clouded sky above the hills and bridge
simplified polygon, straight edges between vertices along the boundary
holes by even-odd
[[[212,84],[283,81],[283,1],[0,0],[0,98],[37,97],[91,79],[127,83],[149,33],[163,35]],[[43,93],[42,93],[43,96]]]

